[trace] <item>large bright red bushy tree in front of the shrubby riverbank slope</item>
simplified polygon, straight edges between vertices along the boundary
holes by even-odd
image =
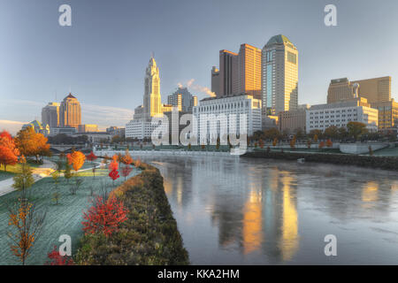
[[[83,213],[86,221],[81,224],[86,234],[103,233],[108,237],[117,232],[120,224],[127,219],[128,210],[116,197],[104,200],[103,197],[97,196],[93,204],[87,213]]]

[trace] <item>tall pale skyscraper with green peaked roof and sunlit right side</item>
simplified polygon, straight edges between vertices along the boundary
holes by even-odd
[[[263,115],[297,109],[298,51],[285,35],[264,45],[262,58]]]

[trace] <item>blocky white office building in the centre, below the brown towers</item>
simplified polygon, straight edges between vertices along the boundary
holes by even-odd
[[[194,107],[193,133],[198,142],[214,142],[224,134],[250,136],[261,131],[261,123],[261,100],[245,94],[205,98]]]

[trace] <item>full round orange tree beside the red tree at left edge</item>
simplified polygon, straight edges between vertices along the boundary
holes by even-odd
[[[20,130],[15,138],[19,152],[26,157],[35,157],[36,163],[39,162],[39,157],[50,156],[50,144],[48,139],[43,134],[34,132],[32,126]]]

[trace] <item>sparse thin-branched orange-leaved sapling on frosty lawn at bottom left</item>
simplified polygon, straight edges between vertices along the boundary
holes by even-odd
[[[36,210],[34,203],[29,202],[24,191],[8,211],[10,231],[7,235],[11,239],[11,252],[25,265],[34,242],[42,232],[46,214]]]

